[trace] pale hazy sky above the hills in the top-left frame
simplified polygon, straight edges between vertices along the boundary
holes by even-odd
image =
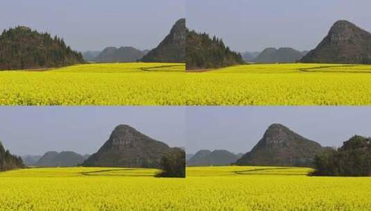
[[[19,0],[2,2],[0,17],[1,31],[28,26],[62,37],[76,51],[102,51],[105,47],[150,50],[185,17],[185,8],[184,0]]]

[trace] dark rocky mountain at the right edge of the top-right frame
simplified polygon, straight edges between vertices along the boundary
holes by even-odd
[[[371,33],[346,20],[337,21],[301,62],[371,64]]]

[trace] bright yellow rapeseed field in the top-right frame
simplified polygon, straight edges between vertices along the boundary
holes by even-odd
[[[191,105],[370,105],[371,65],[237,65],[189,73]]]

